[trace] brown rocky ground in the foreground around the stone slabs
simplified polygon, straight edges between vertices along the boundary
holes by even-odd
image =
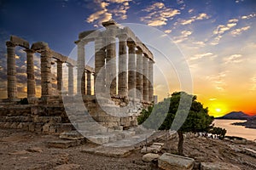
[[[0,129],[0,169],[157,169],[152,163],[142,161],[140,150],[131,155],[116,158],[84,153],[84,148],[96,147],[83,144],[67,149],[49,148],[47,143],[58,139],[54,135],[42,135],[16,129]],[[175,153],[177,139],[158,141],[165,143],[162,152]],[[241,169],[256,169],[256,158],[236,152],[229,146],[247,147],[256,150],[256,145],[234,144],[216,139],[185,139],[184,154],[196,162],[222,161]],[[234,148],[234,147],[233,147]],[[198,165],[198,163],[197,163]]]

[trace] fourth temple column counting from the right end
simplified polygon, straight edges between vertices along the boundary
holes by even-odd
[[[134,42],[128,42],[128,91],[131,99],[136,98],[136,44]]]

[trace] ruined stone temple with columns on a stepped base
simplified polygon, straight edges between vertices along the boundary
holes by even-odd
[[[130,28],[113,20],[103,22],[102,26],[102,30],[79,33],[79,40],[75,41],[77,59],[55,52],[46,42],[30,46],[26,40],[11,36],[6,42],[8,96],[0,100],[0,127],[55,134],[73,132],[84,122],[97,122],[108,130],[136,127],[140,111],[154,103],[153,54]],[[85,65],[84,47],[89,42],[94,42],[95,47],[94,68]],[[20,105],[17,96],[16,46],[26,52],[27,105]],[[40,54],[41,61],[40,98],[36,97],[35,53]],[[56,89],[52,82],[53,60],[57,65]],[[62,89],[63,66],[68,68],[66,93]],[[122,116],[117,116],[119,111]]]

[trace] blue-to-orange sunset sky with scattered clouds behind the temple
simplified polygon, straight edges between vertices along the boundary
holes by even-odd
[[[53,50],[73,56],[79,32],[102,28],[100,23],[111,19],[131,26],[153,52],[154,93],[159,99],[188,86],[213,116],[230,111],[256,114],[254,0],[0,1],[0,98],[7,97],[9,35],[30,44],[48,42]],[[26,54],[22,48],[16,54],[22,97]],[[39,77],[38,55],[35,60]]]

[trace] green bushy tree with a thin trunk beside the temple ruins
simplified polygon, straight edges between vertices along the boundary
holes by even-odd
[[[169,107],[167,110],[166,106]],[[213,116],[208,115],[208,109],[196,100],[195,95],[175,92],[154,108],[143,111],[138,120],[144,127],[176,130],[179,137],[177,152],[183,155],[183,133],[209,131]]]

